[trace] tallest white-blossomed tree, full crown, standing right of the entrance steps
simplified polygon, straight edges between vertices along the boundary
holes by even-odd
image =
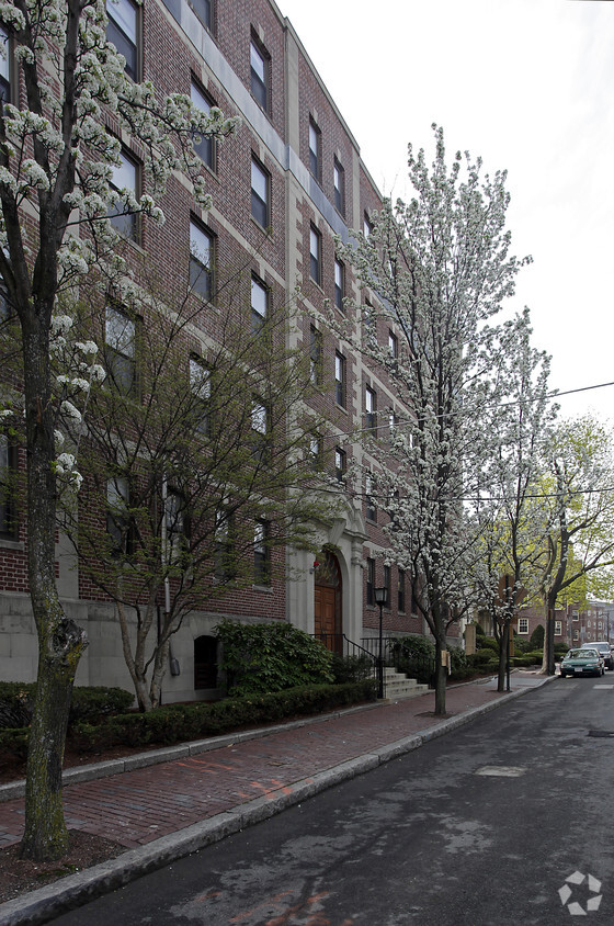
[[[356,233],[354,242],[339,246],[371,291],[371,303],[354,307],[369,323],[362,337],[355,328],[340,334],[385,369],[395,395],[379,421],[399,419],[385,447],[367,439],[365,449],[390,518],[390,558],[411,577],[413,607],[435,641],[435,712],[442,714],[447,630],[473,602],[467,564],[475,535],[463,499],[475,496],[492,452],[486,420],[500,355],[489,323],[512,295],[523,261],[509,255],[505,173],[482,177],[481,161],[466,155],[463,174],[461,153],[448,168],[443,131],[433,128],[431,170],[424,151],[414,155],[409,146],[416,197],[386,200],[367,237]],[[398,355],[377,338],[378,325],[397,332]]]

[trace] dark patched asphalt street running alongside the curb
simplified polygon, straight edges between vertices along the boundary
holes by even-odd
[[[557,679],[54,923],[610,926],[613,708]]]

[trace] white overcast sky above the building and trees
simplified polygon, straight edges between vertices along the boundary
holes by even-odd
[[[553,387],[614,381],[614,2],[276,0],[383,193],[407,143],[508,170],[512,252]],[[429,162],[432,160],[429,157]],[[405,189],[403,189],[405,188]],[[614,420],[614,386],[561,397]]]

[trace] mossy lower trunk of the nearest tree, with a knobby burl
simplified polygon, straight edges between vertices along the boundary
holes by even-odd
[[[50,317],[50,305],[41,315]],[[70,696],[84,631],[67,620],[55,573],[57,487],[49,392],[48,321],[22,320],[27,449],[27,571],[38,635],[38,674],[27,752],[25,829],[21,858],[59,858],[68,843],[61,804],[61,766]],[[29,324],[26,324],[29,323]]]

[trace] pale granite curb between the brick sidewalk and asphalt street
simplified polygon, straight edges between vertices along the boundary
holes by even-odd
[[[128,849],[115,859],[96,865],[86,871],[77,874],[70,874],[61,881],[49,884],[46,888],[39,888],[29,894],[8,901],[0,905],[0,926],[36,926],[36,924],[47,923],[61,913],[66,913],[77,906],[93,900],[101,894],[127,884],[129,881],[136,880],[144,874],[147,874],[156,869],[170,865],[180,858],[183,858],[191,852],[198,851],[206,846],[217,843],[220,839],[238,833],[248,826],[268,820],[277,813],[286,810],[294,804],[299,804],[302,801],[318,794],[328,788],[339,784],[342,781],[348,781],[355,778],[357,775],[363,775],[384,765],[391,759],[398,758],[413,749],[420,748],[424,743],[443,736],[446,733],[456,730],[470,723],[477,716],[488,713],[494,708],[509,701],[526,694],[527,691],[533,691],[535,688],[552,681],[555,676],[545,677],[536,685],[526,686],[516,691],[505,692],[502,697],[481,704],[477,708],[470,708],[457,716],[448,718],[441,723],[435,724],[429,730],[420,733],[414,733],[405,736],[401,739],[382,746],[374,752],[366,753],[354,759],[340,763],[332,766],[325,771],[318,772],[310,778],[300,779],[293,782],[292,786],[285,786],[278,789],[278,792],[271,792],[265,798],[257,798],[239,804],[231,811],[225,811],[201,823],[193,824],[183,829],[173,833],[170,836],[163,836],[152,843],[148,843],[138,849]],[[374,705],[377,707],[377,705]],[[352,709],[355,710],[355,709]],[[345,714],[349,712],[340,712]],[[257,738],[258,736],[269,735],[272,732],[280,730],[288,730],[294,726],[305,725],[303,721],[297,721],[293,724],[282,724],[278,727],[266,731],[249,731],[243,738]],[[241,734],[242,736],[243,734]],[[224,741],[224,742],[221,742]],[[206,741],[212,743],[213,741]],[[218,748],[220,745],[240,742],[237,736],[217,737],[216,745],[209,748]],[[198,744],[191,744],[196,746]],[[178,747],[183,749],[184,747]],[[157,750],[159,753],[171,753],[170,750]],[[200,752],[204,752],[201,749]],[[182,753],[181,755],[187,755]],[[174,753],[170,758],[174,758]],[[137,757],[134,757],[137,758]],[[158,759],[164,761],[164,759]],[[127,761],[127,760],[126,760]],[[152,763],[148,763],[152,764]],[[104,764],[109,765],[109,764]],[[134,766],[139,767],[139,766]],[[127,770],[127,769],[126,769]],[[80,769],[84,771],[84,769]],[[116,772],[110,772],[116,773]],[[92,776],[93,777],[93,776]],[[87,779],[72,779],[87,780]],[[66,783],[66,780],[65,780]]]

